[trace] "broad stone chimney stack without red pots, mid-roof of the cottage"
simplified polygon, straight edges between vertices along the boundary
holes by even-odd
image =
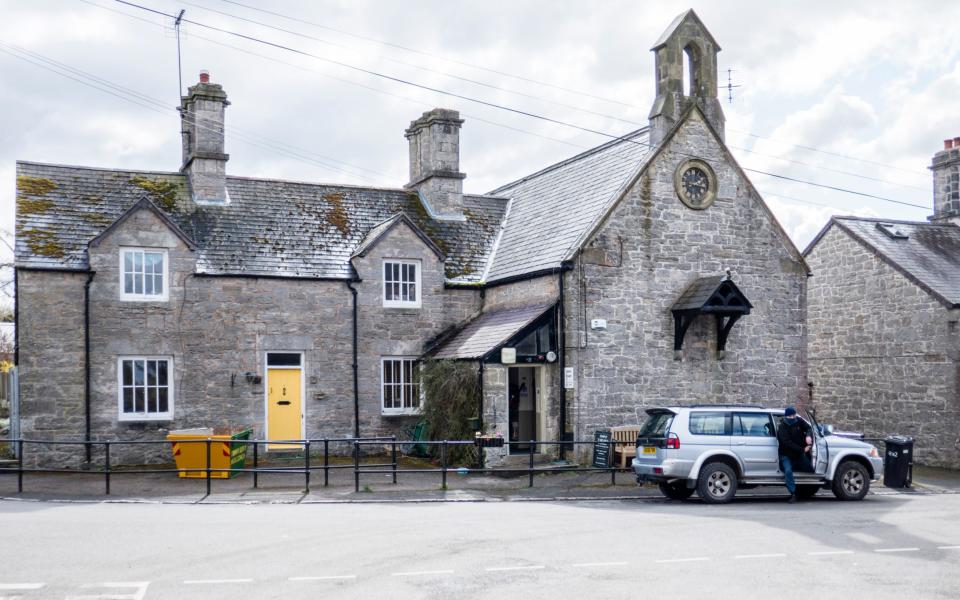
[[[460,172],[460,113],[435,108],[423,113],[404,136],[410,142],[410,183],[441,220],[463,220],[463,180]]]

